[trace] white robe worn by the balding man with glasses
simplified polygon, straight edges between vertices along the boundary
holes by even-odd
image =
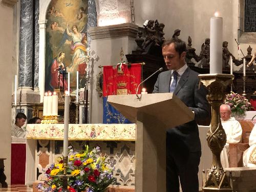
[[[229,143],[240,142],[241,136],[242,136],[242,127],[241,127],[241,124],[236,119],[234,119],[234,117],[231,117],[226,121],[223,121],[221,119],[221,124],[227,135],[226,144],[223,147],[223,150],[221,152],[221,164],[223,168],[228,168],[229,167],[229,162],[228,162]]]

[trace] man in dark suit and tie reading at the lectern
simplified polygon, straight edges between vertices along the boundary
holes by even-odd
[[[186,44],[178,38],[167,40],[162,53],[168,71],[159,74],[153,93],[173,93],[195,113],[195,120],[169,129],[166,134],[166,191],[199,190],[198,165],[201,143],[196,120],[209,115],[206,89],[199,88],[198,73],[185,62]],[[182,118],[182,117],[181,117]]]

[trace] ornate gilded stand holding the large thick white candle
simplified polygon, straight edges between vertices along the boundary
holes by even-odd
[[[212,152],[212,164],[207,176],[204,174],[203,191],[232,191],[220,158],[227,140],[220,119],[220,105],[223,104],[226,97],[225,89],[234,76],[229,74],[202,74],[199,75],[199,78],[200,82],[208,89],[206,99],[211,105],[211,123],[206,139]]]

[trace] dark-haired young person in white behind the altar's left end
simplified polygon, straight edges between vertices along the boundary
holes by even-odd
[[[24,113],[17,113],[15,123],[12,125],[12,137],[26,137],[26,128],[22,127],[25,124],[26,120],[27,116]]]

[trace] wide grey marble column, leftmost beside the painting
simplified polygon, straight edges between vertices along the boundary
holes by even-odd
[[[32,90],[33,0],[20,1],[18,87]]]

